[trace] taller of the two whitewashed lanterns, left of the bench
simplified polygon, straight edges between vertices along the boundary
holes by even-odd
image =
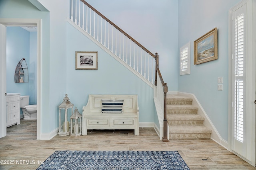
[[[69,101],[68,95],[66,94],[63,102],[59,106],[59,133],[60,136],[67,136],[70,135],[69,130],[69,121],[68,121],[68,109],[71,109],[71,114],[73,113],[73,104]],[[65,119],[62,120],[62,113],[61,109],[65,110]],[[63,125],[63,126],[62,126]]]

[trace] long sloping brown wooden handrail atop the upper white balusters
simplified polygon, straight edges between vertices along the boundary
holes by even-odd
[[[148,49],[146,49],[143,45],[141,45],[140,43],[138,43],[138,41],[136,41],[135,39],[133,39],[130,35],[128,35],[128,33],[124,32],[120,27],[118,27],[116,24],[114,24],[112,21],[108,20],[108,18],[106,18],[103,14],[101,14],[100,12],[98,12],[95,8],[93,8],[90,4],[88,4],[85,0],[80,0],[81,2],[83,2],[84,4],[86,4],[89,8],[91,8],[94,12],[96,12],[99,16],[101,16],[104,20],[108,21],[108,23],[110,23],[113,27],[115,27],[116,29],[118,29],[121,33],[123,33],[124,35],[126,35],[126,37],[128,37],[130,40],[132,40],[134,43],[136,43],[140,48],[142,48],[144,51],[146,51],[149,55],[151,55],[152,57],[155,58],[155,55],[153,53],[151,53],[150,51],[148,51]]]

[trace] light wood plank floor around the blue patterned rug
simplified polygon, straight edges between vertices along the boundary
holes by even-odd
[[[153,128],[140,128],[139,134],[88,131],[87,136],[56,136],[50,141],[38,141],[36,121],[21,120],[20,125],[8,127],[6,137],[0,139],[0,160],[9,163],[0,164],[0,169],[35,170],[55,150],[178,150],[191,170],[256,170],[212,140],[162,142]]]

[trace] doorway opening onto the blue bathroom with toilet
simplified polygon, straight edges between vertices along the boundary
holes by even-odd
[[[18,61],[22,61],[21,63]],[[16,66],[16,64],[18,65]],[[17,70],[18,67],[18,70]],[[15,69],[15,78],[14,78]],[[12,94],[20,94],[20,108],[11,109],[7,105],[6,136],[22,136],[36,139],[36,104],[37,104],[37,26],[6,27],[6,92],[10,99]],[[22,80],[21,80],[21,79]],[[14,80],[15,79],[15,80]],[[8,97],[9,96],[9,97]],[[24,107],[29,107],[30,111]],[[9,111],[8,111],[9,110]],[[31,114],[32,113],[32,114]],[[13,114],[17,114],[14,115]],[[17,117],[18,116],[18,117]],[[15,118],[16,117],[16,118]],[[18,118],[18,124],[13,119]],[[33,125],[33,126],[32,126]],[[26,133],[19,131],[26,127]]]

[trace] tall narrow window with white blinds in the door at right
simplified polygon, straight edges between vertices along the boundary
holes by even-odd
[[[234,23],[234,138],[244,138],[244,14]]]

